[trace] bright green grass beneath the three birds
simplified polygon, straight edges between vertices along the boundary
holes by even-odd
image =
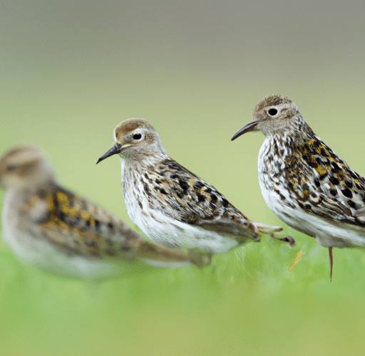
[[[365,255],[263,239],[212,266],[69,281],[0,250],[4,355],[340,355],[364,325]],[[302,257],[289,271],[297,252]],[[349,326],[350,325],[350,326]],[[20,337],[20,338],[19,338]],[[310,340],[310,342],[309,342]],[[347,340],[347,343],[344,343]]]

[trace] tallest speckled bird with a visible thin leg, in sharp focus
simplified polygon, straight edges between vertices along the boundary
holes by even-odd
[[[365,246],[365,179],[352,170],[304,121],[286,96],[267,95],[253,121],[238,130],[266,137],[259,150],[258,177],[269,209],[293,229],[329,248]]]

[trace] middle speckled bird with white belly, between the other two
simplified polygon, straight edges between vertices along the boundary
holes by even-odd
[[[282,227],[251,221],[215,187],[170,158],[158,132],[142,118],[120,122],[115,145],[98,162],[119,155],[122,190],[130,219],[150,239],[203,255],[225,253],[259,241]],[[291,236],[282,238],[293,243]]]

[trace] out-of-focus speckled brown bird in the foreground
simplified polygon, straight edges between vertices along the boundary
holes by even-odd
[[[21,261],[68,278],[203,266],[199,256],[143,239],[113,214],[61,187],[43,152],[19,145],[0,157],[4,241]]]

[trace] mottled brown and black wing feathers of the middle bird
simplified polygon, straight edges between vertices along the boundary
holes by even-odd
[[[242,212],[235,208],[212,185],[197,177],[173,159],[165,159],[157,167],[148,167],[143,179],[153,184],[159,199],[153,199],[145,184],[145,194],[152,209],[159,209],[157,202],[163,201],[164,214],[185,224],[195,224],[203,229],[220,231],[259,241],[259,231],[281,231],[269,226],[269,231],[259,229]],[[268,227],[268,226],[266,226]],[[239,240],[239,239],[238,239]]]

